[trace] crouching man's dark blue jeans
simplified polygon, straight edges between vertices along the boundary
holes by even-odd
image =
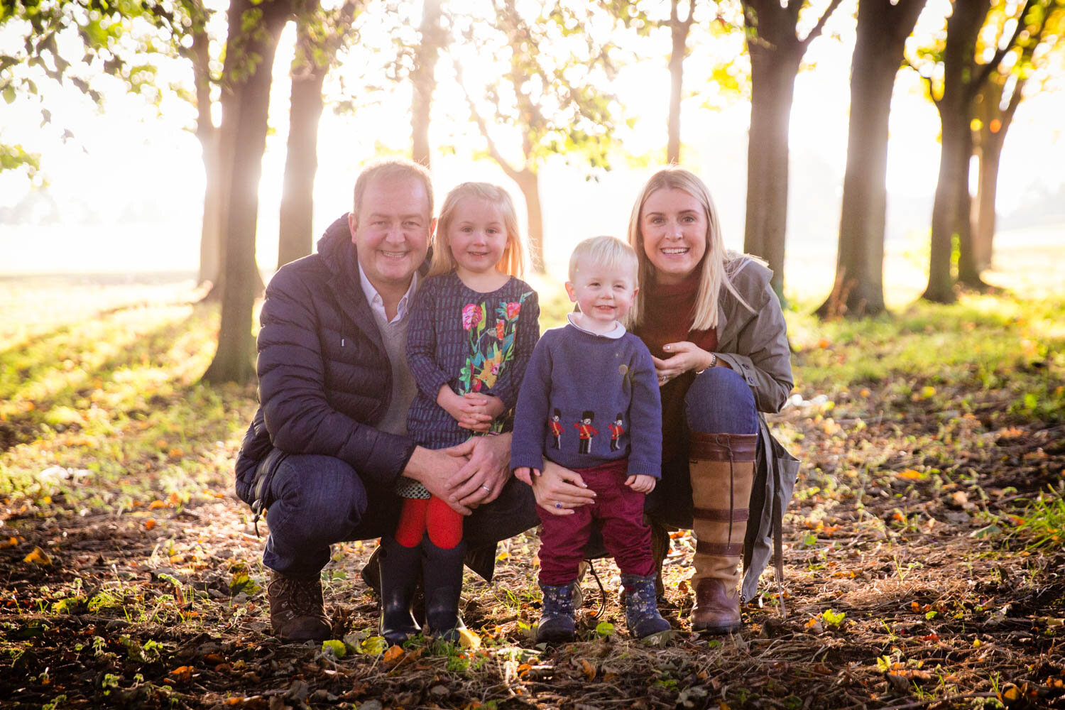
[[[292,455],[271,481],[269,538],[263,564],[293,577],[316,577],[329,545],[372,540],[395,531],[402,499],[391,489],[367,488],[359,474],[329,456]],[[532,489],[517,479],[491,503],[465,518],[471,548],[513,536],[539,521]]]

